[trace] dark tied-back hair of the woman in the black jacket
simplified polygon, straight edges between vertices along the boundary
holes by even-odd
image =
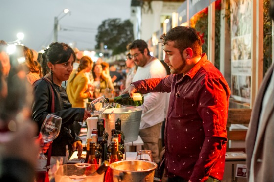
[[[70,56],[73,56],[73,61],[75,61],[76,55],[73,49],[65,43],[54,42],[49,45],[49,48],[45,50],[42,54],[43,58],[43,76],[49,72],[49,68],[47,67],[47,62],[51,62],[52,64],[65,63],[69,60]],[[46,64],[46,69],[45,65]]]

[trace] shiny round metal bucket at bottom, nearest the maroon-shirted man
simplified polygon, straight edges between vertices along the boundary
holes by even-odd
[[[153,182],[157,164],[144,160],[124,160],[110,164],[114,182]]]

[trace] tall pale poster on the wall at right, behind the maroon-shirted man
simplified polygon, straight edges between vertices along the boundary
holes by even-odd
[[[250,103],[251,0],[231,0],[231,97]]]

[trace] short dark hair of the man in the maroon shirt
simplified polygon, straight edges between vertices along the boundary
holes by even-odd
[[[202,55],[202,42],[195,28],[187,26],[177,26],[162,34],[159,41],[162,45],[168,41],[174,41],[174,47],[178,48],[182,54],[183,50],[190,47],[195,56]]]

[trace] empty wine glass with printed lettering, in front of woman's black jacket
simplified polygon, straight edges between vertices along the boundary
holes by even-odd
[[[47,114],[42,127],[41,127],[41,134],[42,138],[44,139],[45,143],[53,141],[55,138],[58,137],[62,124],[62,118],[58,117],[53,114]],[[46,160],[46,156],[43,153],[43,149],[41,148],[39,159]]]

